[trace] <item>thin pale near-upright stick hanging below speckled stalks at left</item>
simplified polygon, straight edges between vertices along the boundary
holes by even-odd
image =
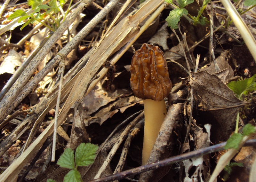
[[[65,70],[65,61],[64,58],[60,61],[60,67],[58,75],[60,75],[60,84],[59,84],[59,92],[58,92],[58,98],[57,98],[57,104],[55,109],[55,117],[54,117],[54,130],[53,130],[53,141],[52,141],[52,162],[55,161],[55,151],[56,151],[56,140],[57,140],[57,121],[58,121],[58,115],[59,115],[59,109],[60,109],[60,95],[61,95],[61,89],[62,89],[62,83],[63,83],[63,75]]]

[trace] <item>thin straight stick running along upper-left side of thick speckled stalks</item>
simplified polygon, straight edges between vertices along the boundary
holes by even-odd
[[[15,73],[12,75],[12,77],[8,80],[8,82],[4,85],[4,88],[2,89],[0,93],[0,100],[4,98],[4,95],[9,91],[9,89],[12,87],[13,83],[16,82],[16,80],[19,78],[20,74],[23,72],[23,70],[28,66],[28,64],[31,62],[31,60],[36,56],[38,51],[42,49],[44,44],[49,40],[49,38],[52,36],[52,34],[49,34],[37,47],[33,50],[33,52],[30,53],[28,58],[20,65],[20,67],[15,71]]]

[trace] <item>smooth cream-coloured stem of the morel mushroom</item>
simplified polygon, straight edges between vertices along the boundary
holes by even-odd
[[[152,99],[146,99],[143,100],[143,102],[145,126],[142,149],[142,165],[145,165],[156,141],[157,135],[164,121],[167,111],[164,100],[155,101]]]

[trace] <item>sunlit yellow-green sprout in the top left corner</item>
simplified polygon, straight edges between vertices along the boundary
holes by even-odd
[[[60,27],[60,16],[58,15],[58,12],[60,12],[59,8],[60,7],[62,8],[64,3],[65,3],[65,0],[59,0],[58,2],[57,0],[50,0],[47,2],[47,4],[43,4],[42,0],[28,0],[28,5],[31,6],[34,12],[28,14],[23,10],[17,10],[13,12],[12,15],[9,16],[7,19],[13,20],[15,18],[20,17],[20,19],[18,20],[19,23],[22,21],[25,21],[25,23],[22,25],[20,30],[22,30],[28,24],[34,23],[37,21],[43,24],[45,27],[49,28],[51,31],[55,32],[56,29]],[[71,3],[72,3],[72,0],[70,1],[68,10],[64,16],[64,20],[68,14]],[[46,23],[44,23],[43,20]],[[50,24],[51,26],[47,25],[47,23]]]

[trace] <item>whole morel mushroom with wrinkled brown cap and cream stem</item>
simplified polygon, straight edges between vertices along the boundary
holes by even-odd
[[[166,115],[164,98],[172,90],[163,51],[158,46],[143,44],[132,57],[131,87],[144,103],[144,141],[142,165],[146,164]]]

